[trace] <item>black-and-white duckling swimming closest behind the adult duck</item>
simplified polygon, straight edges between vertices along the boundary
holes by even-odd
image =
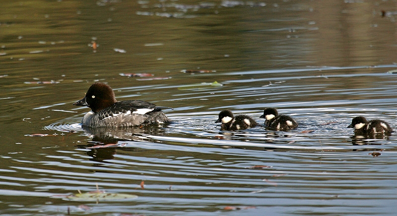
[[[219,118],[215,121],[215,123],[219,122],[222,122],[220,127],[223,130],[245,130],[258,125],[258,123],[250,116],[233,116],[233,113],[230,110],[223,110],[219,113]]]

